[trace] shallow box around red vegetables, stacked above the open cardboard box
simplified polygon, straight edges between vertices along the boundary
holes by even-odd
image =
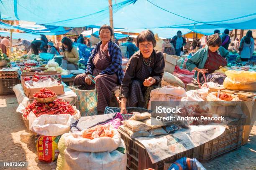
[[[32,78],[35,72],[22,72],[21,77],[20,77],[20,81],[21,84],[24,84],[24,78],[25,77],[30,77]],[[52,80],[57,80],[59,83],[61,83],[61,74],[60,72],[56,72],[56,71],[46,71],[43,74],[38,74],[39,77],[41,76],[46,76],[47,78],[51,78]]]

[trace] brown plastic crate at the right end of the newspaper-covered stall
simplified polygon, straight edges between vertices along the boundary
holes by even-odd
[[[200,146],[199,160],[207,163],[215,157],[241,147],[245,119],[228,125],[222,135]]]

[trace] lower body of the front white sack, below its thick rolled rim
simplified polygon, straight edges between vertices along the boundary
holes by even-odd
[[[117,149],[112,152],[88,153],[67,148],[64,152],[67,170],[126,170],[127,155],[123,140]]]

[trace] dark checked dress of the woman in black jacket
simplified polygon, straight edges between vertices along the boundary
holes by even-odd
[[[130,96],[127,98],[127,107],[147,108],[151,90],[159,87],[159,84],[150,87],[143,86],[143,81],[151,75],[152,70],[152,67],[142,64],[141,69],[136,72],[136,79],[132,80]]]

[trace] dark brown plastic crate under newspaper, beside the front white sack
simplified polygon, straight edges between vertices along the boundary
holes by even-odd
[[[200,151],[196,150],[197,148],[193,148],[153,164],[149,158],[146,148],[144,148],[141,143],[132,140],[131,137],[123,130],[118,129],[118,132],[120,133],[121,138],[125,142],[127,150],[128,170],[144,170],[148,168],[153,168],[154,170],[163,170],[164,162],[173,163],[182,157],[197,158],[196,155],[199,154],[198,151]]]

